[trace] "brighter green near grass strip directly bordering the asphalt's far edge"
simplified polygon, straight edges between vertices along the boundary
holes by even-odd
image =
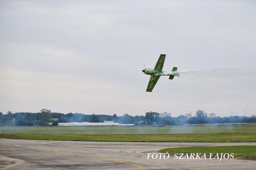
[[[255,133],[209,134],[33,134],[4,133],[0,138],[33,140],[70,140],[99,142],[256,142]]]

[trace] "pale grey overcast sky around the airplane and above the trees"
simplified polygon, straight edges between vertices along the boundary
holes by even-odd
[[[255,1],[0,0],[0,112],[256,113],[256,77],[149,75],[255,67]]]

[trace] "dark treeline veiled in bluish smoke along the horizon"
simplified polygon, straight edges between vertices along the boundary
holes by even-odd
[[[123,116],[114,115],[84,115],[82,113],[55,113],[51,110],[42,109],[38,113],[18,112],[7,114],[0,112],[1,125],[17,125],[17,126],[45,126],[47,123],[58,125],[58,123],[67,122],[104,122],[115,121],[120,124],[135,125],[183,125],[183,124],[213,124],[213,123],[256,123],[256,117],[231,116],[231,117],[207,117],[202,110],[196,111],[196,116],[187,118],[180,115],[178,117],[159,117],[157,112],[147,112],[145,116],[131,116],[124,114]]]

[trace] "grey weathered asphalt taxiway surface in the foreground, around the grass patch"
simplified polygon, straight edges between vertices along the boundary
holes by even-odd
[[[256,169],[245,159],[147,159],[167,147],[252,143],[83,142],[0,139],[0,169]]]

